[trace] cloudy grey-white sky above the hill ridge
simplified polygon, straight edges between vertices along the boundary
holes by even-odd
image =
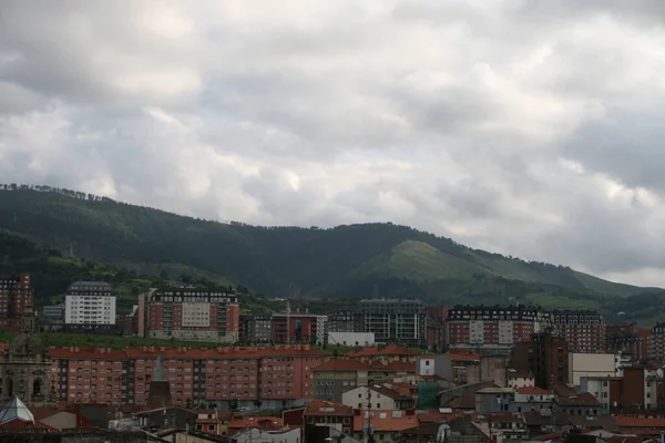
[[[0,1],[0,182],[665,287],[662,0]]]

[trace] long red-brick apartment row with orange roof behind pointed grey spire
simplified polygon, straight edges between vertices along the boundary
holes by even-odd
[[[143,347],[50,350],[57,393],[71,403],[145,405],[156,360],[163,358],[175,405],[272,408],[301,404],[314,398],[313,370],[324,353],[309,346],[190,349]]]

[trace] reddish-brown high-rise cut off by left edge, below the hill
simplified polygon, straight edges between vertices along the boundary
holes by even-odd
[[[18,331],[24,308],[33,303],[29,274],[0,277],[0,329]]]

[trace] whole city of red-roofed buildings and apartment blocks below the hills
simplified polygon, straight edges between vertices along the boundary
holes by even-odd
[[[233,288],[186,285],[150,289],[119,315],[104,281],[73,281],[63,303],[35,312],[33,293],[28,274],[0,279],[0,321],[16,331],[2,343],[0,435],[76,427],[172,442],[573,433],[643,442],[665,432],[663,324],[608,324],[593,310],[519,300],[431,307],[367,298],[327,313],[291,311],[284,300],[282,312],[248,312]],[[44,333],[163,344],[45,347]]]

